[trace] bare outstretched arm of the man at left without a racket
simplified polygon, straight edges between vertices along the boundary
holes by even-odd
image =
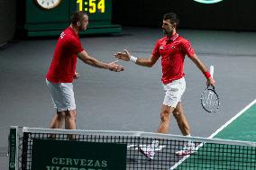
[[[115,64],[115,62],[104,63],[97,60],[96,58],[89,56],[85,50],[78,53],[78,58],[92,67],[105,68],[116,72],[123,71],[123,67]]]

